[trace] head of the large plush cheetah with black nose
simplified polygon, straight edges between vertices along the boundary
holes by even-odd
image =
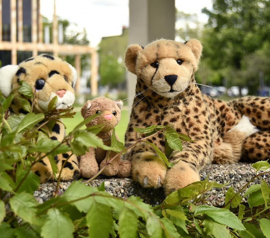
[[[141,79],[144,90],[151,88],[163,97],[174,98],[188,87],[201,51],[196,39],[185,43],[161,39],[146,47],[130,45],[124,62],[127,70]]]

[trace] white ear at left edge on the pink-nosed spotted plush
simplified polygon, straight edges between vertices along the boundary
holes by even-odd
[[[0,91],[5,97],[8,97],[12,91],[11,80],[18,69],[18,65],[6,65],[0,69]]]

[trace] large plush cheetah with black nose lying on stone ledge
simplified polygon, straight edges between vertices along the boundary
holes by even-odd
[[[185,43],[161,39],[146,47],[130,45],[126,51],[125,65],[137,75],[138,94],[126,131],[126,146],[139,139],[133,127],[153,124],[171,124],[194,140],[183,142],[182,151],[173,151],[169,160],[179,162],[170,169],[148,144],[133,147],[125,156],[132,162],[133,179],[144,187],[163,185],[168,194],[200,180],[198,172],[209,163],[235,163],[241,156],[252,162],[270,157],[269,98],[225,102],[202,94],[194,78],[201,51],[196,39]],[[164,152],[163,133],[150,142]]]

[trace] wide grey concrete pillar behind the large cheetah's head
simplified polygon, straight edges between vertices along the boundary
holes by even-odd
[[[174,0],[129,0],[129,45],[147,45],[160,38],[174,40]],[[135,94],[137,77],[127,73],[128,96]],[[129,107],[133,100],[129,100]]]

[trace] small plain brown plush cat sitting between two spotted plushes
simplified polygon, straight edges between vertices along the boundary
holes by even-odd
[[[107,146],[111,145],[111,135],[113,128],[119,123],[121,118],[122,106],[123,102],[121,100],[113,101],[109,98],[97,97],[93,100],[88,100],[81,109],[83,118],[100,113],[98,117],[94,118],[86,126],[90,127],[92,125],[103,124],[103,129],[97,136]],[[89,151],[80,158],[79,168],[81,175],[86,178],[94,176],[99,171],[99,168],[102,168],[106,161],[115,155],[116,152],[113,151],[90,147]],[[131,163],[127,160],[121,160],[120,156],[118,156],[112,163],[106,166],[102,173],[106,176],[130,177]]]

